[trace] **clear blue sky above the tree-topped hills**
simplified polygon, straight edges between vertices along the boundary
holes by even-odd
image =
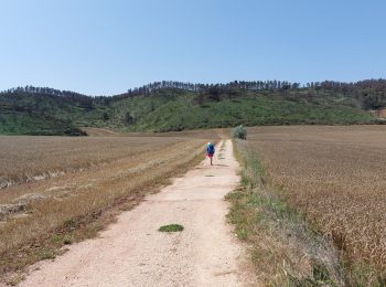
[[[0,89],[386,77],[384,0],[0,0]]]

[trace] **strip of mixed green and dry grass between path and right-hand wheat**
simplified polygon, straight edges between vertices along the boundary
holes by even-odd
[[[339,253],[266,184],[264,167],[246,142],[236,140],[240,188],[227,195],[228,219],[246,241],[256,284],[261,286],[341,286]]]

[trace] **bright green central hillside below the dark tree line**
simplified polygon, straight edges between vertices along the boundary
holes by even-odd
[[[164,93],[168,93],[165,97]],[[164,91],[147,98],[119,102],[112,118],[130,113],[132,123],[127,130],[169,131],[194,128],[232,127],[244,124],[366,124],[374,118],[352,98],[320,95],[309,100],[302,96],[275,92],[243,92],[234,98],[204,99],[197,104],[194,93]],[[120,115],[117,117],[117,115]]]

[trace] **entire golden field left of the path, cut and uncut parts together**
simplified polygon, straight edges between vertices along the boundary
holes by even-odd
[[[195,135],[0,137],[0,277],[95,236],[201,160]]]

